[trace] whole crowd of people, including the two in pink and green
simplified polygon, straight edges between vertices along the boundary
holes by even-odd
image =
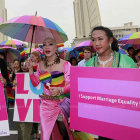
[[[0,53],[1,82],[5,85],[7,107],[14,105],[16,73],[29,72],[34,87],[43,83],[40,95],[40,128],[42,140],[74,140],[70,129],[70,67],[113,67],[139,68],[140,50],[127,49],[128,56],[118,52],[118,41],[109,28],[98,26],[91,31],[91,40],[96,52],[91,47],[84,47],[83,60],[76,57],[63,60],[59,57],[57,43],[53,38],[46,38],[43,43],[44,57],[39,52],[31,53],[6,67],[5,55]],[[79,62],[79,60],[81,60]],[[11,67],[10,67],[11,66]],[[36,73],[34,73],[36,72]],[[35,138],[39,138],[38,124],[19,122],[18,139],[30,140],[32,129]],[[77,131],[76,131],[77,132]],[[79,132],[80,133],[80,132]],[[87,133],[85,133],[87,135]],[[80,136],[79,136],[80,137]],[[92,138],[92,135],[88,135]],[[92,138],[94,139],[94,138]],[[99,136],[99,140],[109,139]],[[82,140],[82,138],[81,138]]]

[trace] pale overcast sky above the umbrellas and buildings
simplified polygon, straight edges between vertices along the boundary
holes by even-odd
[[[5,0],[8,19],[35,15],[47,17],[57,23],[68,35],[70,44],[75,37],[74,0]],[[132,21],[140,25],[140,0],[98,0],[102,25],[122,26]]]

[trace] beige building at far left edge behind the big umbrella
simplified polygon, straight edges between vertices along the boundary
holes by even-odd
[[[0,18],[2,21],[0,21],[0,24],[7,21],[7,10],[5,8],[5,0],[0,0]],[[0,33],[0,42],[7,40],[7,36]]]

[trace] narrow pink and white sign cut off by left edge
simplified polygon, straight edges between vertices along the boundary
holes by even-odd
[[[1,74],[0,74],[1,77]],[[7,108],[4,97],[3,85],[0,82],[0,136],[9,135],[9,123],[7,117]]]

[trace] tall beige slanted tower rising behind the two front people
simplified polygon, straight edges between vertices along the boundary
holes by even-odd
[[[76,37],[72,45],[90,39],[93,27],[101,25],[97,0],[74,0]]]

